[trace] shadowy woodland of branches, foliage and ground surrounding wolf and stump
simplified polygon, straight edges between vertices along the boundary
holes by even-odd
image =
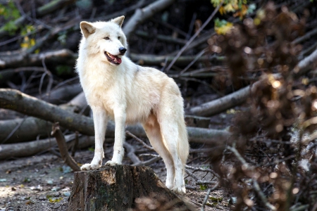
[[[80,21],[120,15],[128,57],[165,72],[182,92],[189,203],[317,210],[314,0],[0,0],[0,210],[67,210],[73,171],[94,153],[75,72]],[[111,123],[104,162],[113,137]],[[165,181],[139,125],[126,128],[123,162]],[[136,202],[134,210],[173,210]]]

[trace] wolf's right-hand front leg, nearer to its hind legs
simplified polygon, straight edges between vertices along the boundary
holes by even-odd
[[[113,110],[116,122],[115,143],[113,146],[113,157],[106,162],[106,165],[120,165],[122,163],[124,149],[123,141],[125,141],[125,108],[117,108]]]

